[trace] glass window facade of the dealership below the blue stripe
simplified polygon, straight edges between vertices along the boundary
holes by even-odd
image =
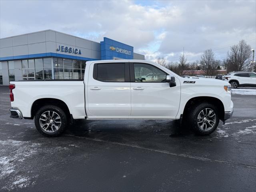
[[[16,80],[40,79],[83,79],[86,61],[66,58],[34,58],[20,60],[20,66],[14,66],[13,60],[8,64],[9,81],[15,81],[15,74],[20,74]],[[0,85],[3,84],[2,62],[0,62]]]

